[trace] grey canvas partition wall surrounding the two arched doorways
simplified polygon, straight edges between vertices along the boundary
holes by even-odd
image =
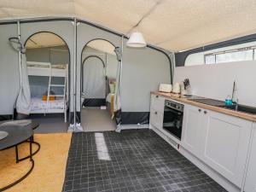
[[[121,35],[105,30],[101,27],[90,25],[83,20],[79,21],[77,28],[77,101],[80,101],[80,70],[81,70],[81,55],[84,45],[93,39],[102,38],[111,42],[115,47],[121,47]],[[13,103],[19,87],[18,79],[18,58],[16,53],[9,48],[8,38],[16,36],[16,24],[6,24],[0,26],[1,35],[1,58],[0,58],[0,76],[4,77],[0,83],[1,92],[1,114],[11,114],[13,110]],[[32,34],[36,32],[53,32],[59,35],[67,43],[70,50],[70,94],[73,94],[73,23],[72,20],[30,20],[28,22],[20,22],[21,40],[26,41]],[[126,41],[126,39],[125,39]],[[124,46],[125,47],[125,46]],[[167,51],[166,51],[167,52]],[[122,112],[131,114],[131,116],[139,117],[140,114],[147,114],[149,112],[150,91],[157,90],[160,83],[170,83],[170,62],[168,57],[157,49],[135,50],[124,49],[123,53],[123,71],[121,81],[121,105]],[[6,75],[8,73],[8,75]],[[131,77],[132,74],[132,77]],[[153,75],[153,76],[152,76]],[[10,83],[11,82],[11,83]],[[9,90],[8,87],[14,87]],[[11,91],[11,93],[9,93]],[[11,94],[12,96],[9,96]],[[131,100],[132,98],[132,100]],[[73,96],[70,96],[70,112],[73,112]],[[77,113],[80,112],[80,103],[77,102]],[[147,116],[146,115],[146,116]],[[123,115],[123,122],[126,124],[148,123],[141,121],[141,118],[132,120],[125,120]],[[70,118],[72,116],[70,115]]]

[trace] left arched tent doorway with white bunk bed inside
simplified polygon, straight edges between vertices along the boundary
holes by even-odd
[[[53,32],[37,32],[26,39],[25,48],[31,118],[65,122],[61,127],[67,131],[70,67],[67,43]]]

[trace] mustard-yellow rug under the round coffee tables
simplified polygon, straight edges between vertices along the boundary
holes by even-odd
[[[71,134],[36,134],[41,149],[33,156],[32,173],[7,192],[61,192],[64,182]],[[34,147],[36,148],[36,147]],[[19,146],[20,158],[29,152],[29,144]],[[0,151],[0,188],[22,177],[31,167],[30,160],[15,163],[15,148]]]

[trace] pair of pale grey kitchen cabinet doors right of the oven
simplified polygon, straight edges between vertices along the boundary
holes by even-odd
[[[241,188],[252,126],[252,121],[185,105],[182,146]]]

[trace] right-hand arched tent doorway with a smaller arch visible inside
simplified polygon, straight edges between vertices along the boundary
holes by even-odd
[[[85,131],[116,128],[113,102],[119,58],[115,50],[107,40],[94,39],[82,51],[81,122]]]

